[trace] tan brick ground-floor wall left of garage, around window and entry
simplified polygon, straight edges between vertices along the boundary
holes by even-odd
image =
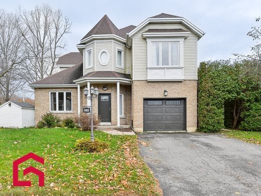
[[[108,90],[102,90],[102,86],[105,84],[93,84],[97,86],[100,93],[110,93],[111,94],[111,125],[117,125],[117,87],[116,84],[106,84]],[[86,97],[83,94],[83,88],[81,87],[81,113],[82,107],[86,106]],[[124,104],[124,118],[120,118],[120,125],[131,125],[132,124],[132,88],[131,85],[120,85],[120,94],[123,94],[123,104]],[[41,119],[43,114],[49,112],[49,99],[50,91],[71,91],[72,92],[72,112],[55,113],[61,119],[66,117],[76,117],[78,114],[78,104],[77,104],[77,87],[76,88],[35,88],[35,122],[36,124]],[[98,104],[97,98],[93,98],[93,112],[95,115],[98,114]]]

